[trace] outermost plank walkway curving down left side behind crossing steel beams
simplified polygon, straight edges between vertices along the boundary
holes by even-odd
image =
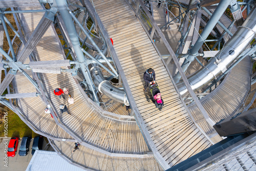
[[[28,9],[41,9],[40,7],[29,7],[29,8],[20,8],[20,10],[28,10]],[[39,16],[36,16],[39,15]],[[30,37],[33,30],[29,29],[29,26],[33,25],[35,28],[37,26],[34,25],[34,17],[37,18],[38,22],[42,17],[42,13],[23,13],[20,14],[20,19],[28,26],[27,29],[24,30],[27,38]],[[33,16],[33,17],[32,17]],[[26,18],[26,19],[25,19]],[[31,18],[30,20],[28,18]],[[32,20],[33,19],[33,20]],[[46,39],[46,37],[50,37],[50,33],[53,32],[52,28],[49,28],[48,32],[46,32],[45,36],[42,38],[42,41]],[[19,48],[17,56],[20,51],[23,49],[24,45]],[[37,49],[33,51],[34,55],[38,55]],[[29,63],[29,58],[25,63]],[[31,70],[26,71],[31,77]],[[36,92],[36,89],[32,85],[32,83],[20,72],[18,72],[13,80],[13,87],[15,89],[15,93],[31,93]],[[29,89],[28,89],[29,88]],[[38,96],[31,98],[20,98],[17,99],[17,104],[19,109],[23,112],[25,119],[33,125],[33,127],[42,134],[50,136],[56,139],[67,139],[73,140],[73,138],[64,130],[62,130],[51,117],[50,114],[45,113],[45,108],[47,107],[46,103]]]

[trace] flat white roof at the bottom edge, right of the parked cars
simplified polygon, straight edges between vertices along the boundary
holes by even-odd
[[[60,157],[56,152],[35,151],[26,171],[84,171],[84,169],[68,163]]]

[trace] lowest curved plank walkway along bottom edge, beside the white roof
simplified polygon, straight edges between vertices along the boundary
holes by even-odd
[[[163,170],[154,156],[145,156],[143,158],[129,158],[129,157],[112,157],[85,146],[79,146],[73,152],[74,142],[53,141],[50,140],[51,145],[57,153],[71,161],[72,164],[82,166],[93,170]],[[73,152],[73,153],[72,153]]]

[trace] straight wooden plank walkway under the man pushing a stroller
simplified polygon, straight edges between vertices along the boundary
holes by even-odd
[[[113,6],[115,4],[115,6]],[[170,166],[201,152],[211,144],[191,121],[180,100],[172,80],[158,56],[151,40],[125,1],[93,1],[105,29],[114,41],[125,78],[129,83],[139,115],[153,141],[158,161]],[[164,99],[160,112],[153,103],[148,103],[143,93],[143,73],[152,67]]]

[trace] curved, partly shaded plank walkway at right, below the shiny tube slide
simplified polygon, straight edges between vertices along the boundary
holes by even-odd
[[[250,92],[251,70],[251,59],[245,57],[228,73],[219,87],[200,100],[213,121],[219,122],[223,118],[233,116],[241,108]],[[190,106],[189,110],[207,134],[214,131],[206,121],[200,121],[202,117],[197,106]],[[215,143],[220,140],[222,138],[219,135],[212,137]]]

